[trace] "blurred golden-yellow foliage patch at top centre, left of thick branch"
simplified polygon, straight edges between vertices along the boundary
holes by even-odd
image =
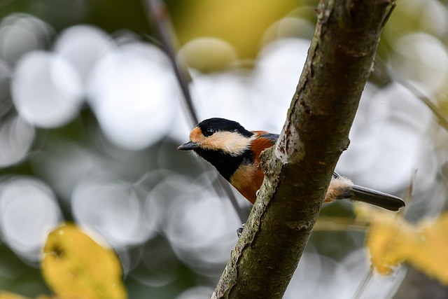
[[[241,59],[248,59],[256,57],[269,26],[293,9],[306,4],[316,6],[317,1],[188,0],[180,3],[174,6],[173,20],[181,44],[214,36],[234,46]],[[312,20],[314,14],[307,17]]]

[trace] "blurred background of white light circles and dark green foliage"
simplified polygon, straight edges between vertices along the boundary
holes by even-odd
[[[199,117],[279,132],[316,4],[166,1]],[[409,85],[448,113],[448,2],[397,4],[337,170],[400,196],[412,184],[406,216],[419,221],[446,206],[448,134]],[[176,151],[192,123],[147,15],[137,0],[0,1],[0,290],[50,293],[43,242],[71,221],[116,249],[130,298],[210,297],[241,221],[212,187],[216,173]],[[351,219],[353,204],[322,215]],[[364,241],[363,229],[316,230],[285,298],[351,298],[370,269]],[[363,298],[397,289],[448,293],[400,267],[374,276]]]

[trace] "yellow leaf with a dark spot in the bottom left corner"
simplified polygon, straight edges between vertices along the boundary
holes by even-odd
[[[43,278],[59,298],[127,298],[116,253],[99,246],[76,225],[50,232],[43,253]]]

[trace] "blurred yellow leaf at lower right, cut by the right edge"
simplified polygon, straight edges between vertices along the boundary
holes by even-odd
[[[370,217],[367,247],[379,274],[390,274],[399,263],[406,262],[448,284],[448,213],[417,224],[382,211]]]

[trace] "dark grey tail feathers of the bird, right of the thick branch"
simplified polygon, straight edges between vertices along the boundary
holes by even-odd
[[[394,195],[382,193],[377,190],[372,190],[358,185],[353,185],[353,197],[350,200],[359,202],[367,202],[377,207],[388,209],[389,211],[399,211],[405,207],[405,202]]]

